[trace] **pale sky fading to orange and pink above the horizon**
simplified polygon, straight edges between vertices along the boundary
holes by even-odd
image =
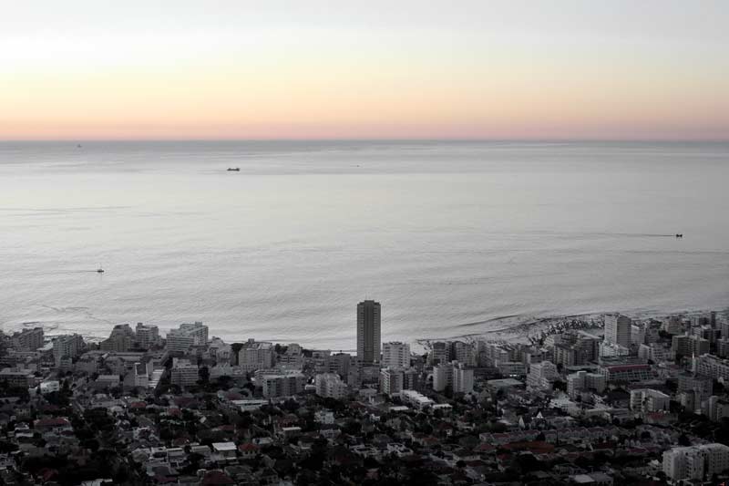
[[[0,12],[0,140],[729,140],[725,0]]]

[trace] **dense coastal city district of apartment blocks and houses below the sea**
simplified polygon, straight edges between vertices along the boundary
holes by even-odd
[[[383,342],[365,300],[355,353],[226,343],[201,322],[98,342],[26,326],[2,341],[0,481],[720,484],[727,317],[606,314],[416,348]]]

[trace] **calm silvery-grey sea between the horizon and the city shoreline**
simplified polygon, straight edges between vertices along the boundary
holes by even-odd
[[[5,332],[351,349],[364,298],[408,341],[729,305],[727,144],[82,144],[0,143]]]

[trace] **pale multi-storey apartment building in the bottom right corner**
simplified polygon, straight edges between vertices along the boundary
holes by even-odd
[[[702,444],[663,452],[663,472],[671,481],[711,479],[729,468],[729,446]]]

